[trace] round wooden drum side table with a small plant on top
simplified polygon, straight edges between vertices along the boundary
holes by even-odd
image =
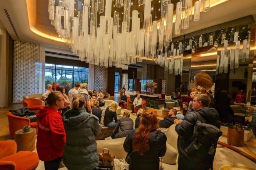
[[[17,143],[17,152],[33,151],[36,146],[36,129],[30,128],[29,132],[23,132],[23,129],[20,129],[15,132],[14,140]]]

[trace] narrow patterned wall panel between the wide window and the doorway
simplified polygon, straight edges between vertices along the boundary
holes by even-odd
[[[108,68],[95,66],[94,67],[94,89],[102,90],[107,89],[107,75]],[[91,89],[89,87],[89,89]]]

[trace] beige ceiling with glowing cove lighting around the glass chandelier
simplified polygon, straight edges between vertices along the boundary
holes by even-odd
[[[134,3],[136,2],[136,7],[134,4],[134,7],[131,7],[131,10],[140,10],[138,6],[138,1],[131,0],[131,2],[133,1]],[[178,0],[172,0],[171,3],[176,4],[176,1]],[[156,16],[156,19],[159,19],[159,12],[157,11],[157,5],[159,3],[159,0],[153,0],[152,4],[153,3],[155,6],[152,5],[153,10],[151,14],[153,14],[153,16]],[[4,28],[7,29],[8,33],[11,35],[11,38],[14,40],[42,44],[60,50],[70,50],[68,46],[62,42],[49,40],[32,32],[31,27],[42,31],[46,35],[57,36],[54,27],[50,25],[49,13],[47,8],[48,0],[0,0],[0,21],[3,23]],[[13,27],[4,9],[6,9],[7,13],[9,14],[9,18],[12,21]],[[211,7],[210,11],[201,12],[200,20],[197,22],[191,21],[189,23],[188,29],[181,30],[181,35],[185,35],[194,31],[201,30],[203,28],[208,28],[251,14],[252,16],[254,16],[254,18],[256,18],[255,9],[255,0],[246,0],[246,3],[240,0],[225,0],[224,3],[221,3],[220,5],[217,5],[215,7]],[[32,15],[34,20],[33,23],[29,22],[28,14]],[[13,28],[16,30],[18,37],[15,35]]]

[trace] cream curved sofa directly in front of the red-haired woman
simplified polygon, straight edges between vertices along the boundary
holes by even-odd
[[[167,151],[163,156],[163,166],[165,170],[177,170],[177,139],[178,134],[175,131],[175,124],[167,131]],[[103,148],[108,148],[111,156],[116,156],[117,159],[123,159],[127,153],[124,151],[124,140],[125,138],[109,139],[109,140],[97,140],[97,150],[102,153]]]

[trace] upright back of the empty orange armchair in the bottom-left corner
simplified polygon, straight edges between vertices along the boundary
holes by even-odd
[[[13,155],[17,152],[17,144],[14,141],[0,141],[0,151],[0,159]]]

